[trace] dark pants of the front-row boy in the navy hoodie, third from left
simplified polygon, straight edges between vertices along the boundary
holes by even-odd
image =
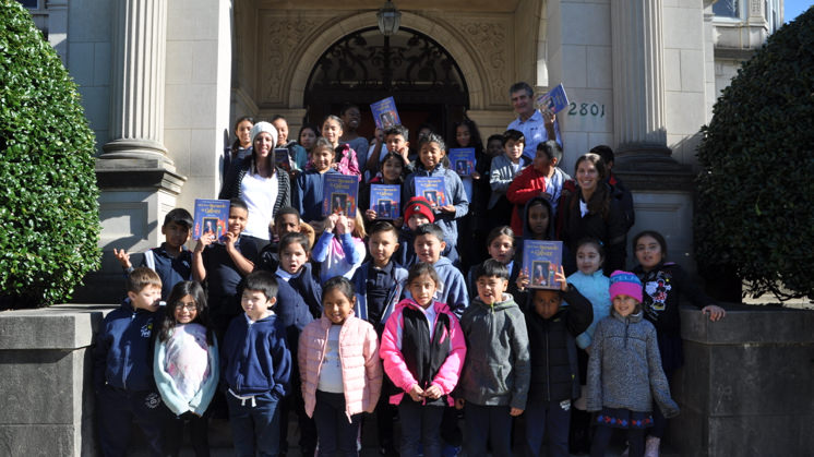
[[[252,400],[241,400],[226,393],[229,425],[235,441],[235,454],[240,457],[276,457],[279,454],[279,398],[266,392]]]

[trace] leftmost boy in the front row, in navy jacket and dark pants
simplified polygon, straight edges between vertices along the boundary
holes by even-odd
[[[93,351],[99,447],[103,455],[123,456],[133,423],[139,424],[151,455],[161,455],[161,397],[153,380],[151,344],[161,279],[147,267],[133,269],[128,298],[108,313]]]

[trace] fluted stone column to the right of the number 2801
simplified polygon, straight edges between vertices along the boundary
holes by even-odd
[[[617,161],[669,158],[661,0],[614,0],[611,25]]]

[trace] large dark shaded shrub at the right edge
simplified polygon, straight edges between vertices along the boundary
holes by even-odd
[[[814,8],[769,37],[713,112],[698,148],[697,258],[733,267],[745,292],[814,297]]]

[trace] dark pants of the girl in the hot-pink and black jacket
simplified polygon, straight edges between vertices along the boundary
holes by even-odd
[[[422,406],[405,394],[398,405],[398,419],[402,422],[402,457],[417,457],[419,443],[423,446],[424,457],[440,457],[443,417],[443,406]]]

